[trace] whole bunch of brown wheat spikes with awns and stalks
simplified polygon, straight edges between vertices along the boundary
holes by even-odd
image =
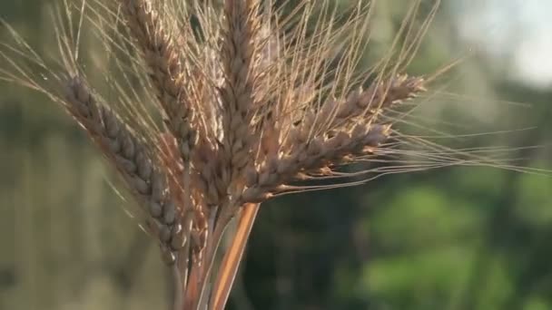
[[[0,45],[0,79],[60,103],[123,177],[173,267],[175,310],[224,308],[266,199],[360,184],[372,172],[467,162],[520,170],[396,129],[409,121],[408,110],[395,116],[408,108],[400,103],[442,73],[403,72],[439,0],[418,31],[421,0],[413,1],[389,53],[370,70],[357,67],[370,37],[371,2],[343,17],[330,0],[80,1],[60,10],[66,16],[55,27],[54,61],[13,31],[15,43]],[[98,56],[84,39],[104,44],[105,63],[115,58],[98,69],[109,81],[104,88],[85,78]],[[380,154],[389,167],[340,170]],[[397,159],[411,154],[424,163]],[[305,185],[317,178],[332,183]],[[227,231],[234,218],[237,228]]]

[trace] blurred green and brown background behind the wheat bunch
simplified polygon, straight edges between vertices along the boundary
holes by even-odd
[[[45,50],[52,3],[2,1],[0,17]],[[380,1],[370,52],[408,3]],[[517,164],[552,169],[544,12],[547,0],[444,1],[411,70],[470,54],[426,120],[452,121],[457,135],[531,128],[449,145],[508,145]],[[44,96],[5,82],[0,94],[0,309],[168,309],[157,247],[84,133]],[[485,167],[399,174],[266,203],[229,308],[552,309],[550,258],[552,179]]]

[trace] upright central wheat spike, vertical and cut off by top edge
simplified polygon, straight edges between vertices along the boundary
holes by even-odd
[[[254,87],[260,31],[259,1],[226,1],[224,4],[222,72],[223,145],[231,179],[237,179],[251,156],[254,136],[249,127],[253,116]]]

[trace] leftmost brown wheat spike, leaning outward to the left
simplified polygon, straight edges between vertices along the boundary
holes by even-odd
[[[66,83],[65,100],[72,113],[128,184],[140,205],[151,217],[150,231],[159,238],[163,251],[178,251],[185,236],[176,203],[167,188],[167,177],[112,111],[98,104],[79,77]],[[168,257],[173,261],[173,255]]]

